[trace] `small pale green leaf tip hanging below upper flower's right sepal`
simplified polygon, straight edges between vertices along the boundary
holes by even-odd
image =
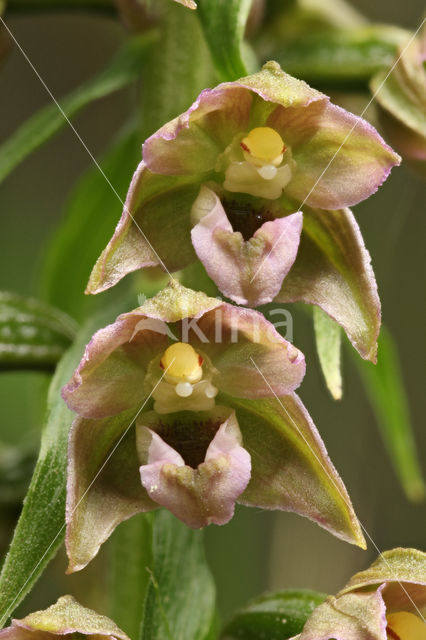
[[[341,329],[320,307],[314,307],[314,331],[318,358],[327,388],[335,400],[340,400],[342,397]]]

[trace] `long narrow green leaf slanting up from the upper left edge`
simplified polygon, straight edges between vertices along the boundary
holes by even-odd
[[[30,153],[47,142],[67,125],[67,118],[75,116],[94,100],[107,96],[135,80],[145,61],[145,55],[155,42],[156,32],[149,32],[130,40],[110,64],[59,102],[51,102],[24,122],[0,146],[0,182]]]

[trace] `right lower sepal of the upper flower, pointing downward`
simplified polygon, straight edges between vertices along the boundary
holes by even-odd
[[[298,255],[275,301],[321,307],[363,358],[376,361],[380,300],[370,255],[349,209],[304,210]]]

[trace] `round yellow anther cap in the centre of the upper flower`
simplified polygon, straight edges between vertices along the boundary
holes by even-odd
[[[283,160],[285,144],[275,129],[256,127],[243,138],[241,148],[247,162],[256,167],[271,167],[269,172],[273,173],[272,168],[278,167]]]

